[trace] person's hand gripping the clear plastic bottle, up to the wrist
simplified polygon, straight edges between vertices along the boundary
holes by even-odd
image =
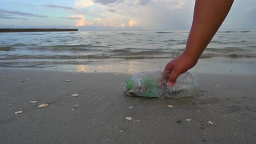
[[[196,65],[198,58],[194,58],[188,53],[182,53],[182,55],[174,58],[165,66],[165,71],[171,71],[169,75],[169,86],[173,86],[176,82],[177,77],[180,74],[185,73]]]

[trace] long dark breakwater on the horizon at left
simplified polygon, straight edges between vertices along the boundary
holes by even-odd
[[[78,29],[68,29],[68,28],[0,28],[0,33],[51,32],[51,31],[78,31]]]

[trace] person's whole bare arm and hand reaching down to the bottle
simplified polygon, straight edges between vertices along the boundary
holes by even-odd
[[[193,22],[185,51],[165,66],[171,71],[169,86],[173,86],[177,77],[194,67],[204,49],[223,23],[234,0],[196,0]]]

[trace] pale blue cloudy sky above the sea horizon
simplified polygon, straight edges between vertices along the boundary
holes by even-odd
[[[0,0],[0,28],[189,30],[194,3],[195,0]],[[256,0],[235,0],[221,29],[256,29],[255,15]]]

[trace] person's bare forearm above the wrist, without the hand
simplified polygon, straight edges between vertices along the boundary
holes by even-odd
[[[234,0],[196,0],[184,53],[198,60],[228,15]]]

